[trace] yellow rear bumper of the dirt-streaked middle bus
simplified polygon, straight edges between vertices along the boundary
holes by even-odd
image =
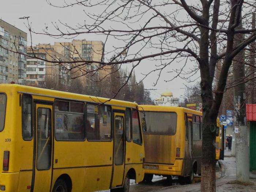
[[[145,174],[181,176],[183,159],[176,159],[174,165],[144,163]]]

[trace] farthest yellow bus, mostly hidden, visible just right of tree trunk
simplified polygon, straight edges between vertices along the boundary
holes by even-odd
[[[219,118],[217,118],[217,134],[216,134],[216,160],[224,160],[224,130],[223,125],[220,124]]]

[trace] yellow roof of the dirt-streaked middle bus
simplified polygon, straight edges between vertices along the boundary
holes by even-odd
[[[160,105],[139,105],[140,111],[160,111],[160,112],[187,112],[197,115],[202,115],[202,112],[175,106],[160,106]]]

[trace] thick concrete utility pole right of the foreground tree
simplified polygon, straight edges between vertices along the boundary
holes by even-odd
[[[242,22],[237,29],[242,29]],[[244,35],[236,34],[236,45],[243,42]],[[241,50],[233,60],[234,84],[234,135],[236,139],[236,179],[249,182],[248,128],[245,105],[245,53]]]

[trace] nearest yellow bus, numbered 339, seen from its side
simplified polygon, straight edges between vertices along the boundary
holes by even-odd
[[[132,102],[0,84],[0,146],[4,192],[129,191],[144,177]]]

